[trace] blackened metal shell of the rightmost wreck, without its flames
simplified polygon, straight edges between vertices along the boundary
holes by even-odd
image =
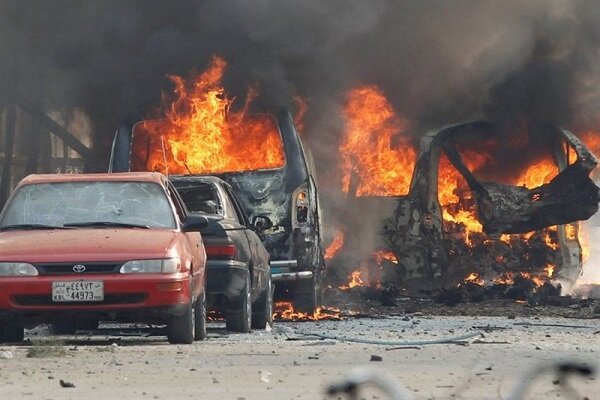
[[[506,260],[494,259],[498,254],[489,247],[493,246],[492,242],[499,242],[501,234],[521,234],[550,226],[556,226],[558,244],[553,259],[557,270],[553,278],[572,282],[580,275],[582,251],[576,234],[578,225],[574,222],[587,219],[598,211],[598,187],[589,177],[597,160],[575,135],[565,129],[538,126],[534,132],[544,138],[559,173],[548,183],[530,189],[485,181],[466,166],[460,152],[461,143],[486,140],[502,133],[490,122],[450,126],[430,132],[421,139],[410,191],[398,198],[395,209],[390,210],[393,217],[383,228],[389,246],[397,256],[403,281],[421,282],[424,286],[430,286],[428,283],[432,282],[456,285],[464,278],[465,271],[453,270],[453,267],[467,258],[472,264],[489,264],[497,273],[502,272]],[[456,241],[444,230],[446,222],[438,196],[442,153],[468,184],[469,207],[476,212],[483,225],[483,234],[487,235],[482,240],[483,253],[479,259],[474,259],[473,254],[461,259],[454,246]],[[510,167],[506,166],[506,169]],[[523,256],[514,266],[531,261],[535,255],[527,251]]]

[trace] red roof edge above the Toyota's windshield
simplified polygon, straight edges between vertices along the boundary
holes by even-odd
[[[159,172],[119,172],[101,174],[34,174],[28,175],[19,186],[35,183],[60,182],[156,182],[162,184],[165,176]]]

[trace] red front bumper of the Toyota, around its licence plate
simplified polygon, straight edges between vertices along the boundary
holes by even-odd
[[[53,302],[52,282],[102,281],[104,300]],[[55,322],[74,317],[151,322],[181,315],[191,299],[190,275],[90,274],[0,278],[0,321]]]

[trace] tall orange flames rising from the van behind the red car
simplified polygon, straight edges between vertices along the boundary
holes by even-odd
[[[221,80],[227,63],[213,57],[207,70],[186,82],[169,77],[161,120],[146,121],[134,137],[134,169],[202,174],[280,168],[285,164],[276,121],[250,115],[258,92],[250,88],[244,106],[232,109]],[[170,100],[169,100],[170,99]]]

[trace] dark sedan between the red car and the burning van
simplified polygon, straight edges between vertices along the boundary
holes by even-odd
[[[225,316],[237,332],[273,324],[273,284],[269,253],[256,232],[272,225],[264,216],[252,222],[232,188],[212,176],[171,176],[190,213],[208,219],[202,238],[206,249],[207,305]],[[255,232],[256,231],[256,232]]]

